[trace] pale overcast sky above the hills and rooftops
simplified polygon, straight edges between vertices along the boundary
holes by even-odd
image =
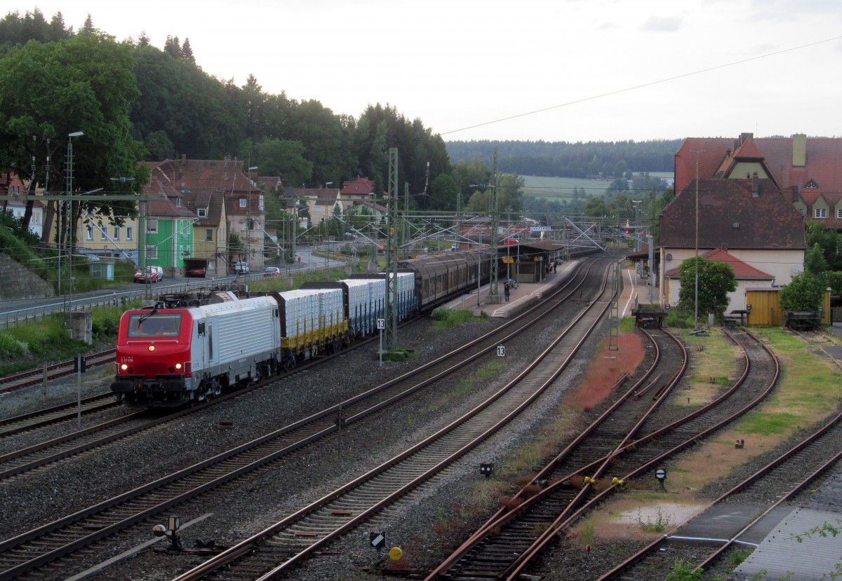
[[[839,0],[12,1],[445,140],[842,136]]]

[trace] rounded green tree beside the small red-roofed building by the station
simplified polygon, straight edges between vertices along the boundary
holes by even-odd
[[[707,313],[713,313],[721,319],[728,308],[728,293],[737,290],[737,277],[734,276],[733,269],[727,262],[706,261],[704,258],[695,256],[681,262],[679,309],[685,313],[695,314],[697,260],[699,264],[699,317],[706,317]]]

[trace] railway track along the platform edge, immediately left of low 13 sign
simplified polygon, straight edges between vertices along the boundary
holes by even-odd
[[[59,559],[61,567],[68,570],[72,565],[67,563],[65,557],[78,552],[82,547],[99,550],[92,546],[118,531],[267,467],[302,446],[332,435],[339,429],[346,429],[354,422],[376,413],[418,388],[456,371],[456,357],[461,362],[472,362],[483,355],[488,356],[496,349],[502,337],[523,332],[530,324],[541,320],[541,317],[549,309],[557,306],[565,296],[577,292],[576,289],[587,279],[588,272],[589,267],[580,267],[577,276],[573,277],[567,286],[559,289],[554,298],[532,309],[529,314],[521,315],[502,325],[495,332],[484,335],[474,343],[462,346],[449,357],[440,357],[420,371],[408,373],[381,388],[360,394],[357,398],[325,409],[256,441],[185,468],[179,473],[3,541],[0,543],[0,579],[26,578],[21,576],[29,575],[29,572],[37,577],[38,569],[54,568]]]

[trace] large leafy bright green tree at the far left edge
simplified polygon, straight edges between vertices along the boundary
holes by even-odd
[[[131,47],[103,34],[77,34],[60,42],[29,42],[0,56],[0,172],[29,176],[32,156],[39,166],[30,188],[47,182],[61,189],[66,175],[68,134],[74,138],[73,191],[111,189],[111,177],[137,177],[142,144],[130,135],[128,110],[138,91]],[[33,136],[39,143],[33,151]],[[49,140],[49,141],[48,141]],[[47,145],[49,144],[49,145]],[[37,155],[36,155],[37,154]],[[83,203],[109,215],[126,215],[134,203]],[[27,209],[25,219],[29,219]],[[45,218],[50,230],[51,209]]]

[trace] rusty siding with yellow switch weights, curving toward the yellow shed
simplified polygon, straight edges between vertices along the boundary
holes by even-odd
[[[575,470],[564,476],[559,476],[565,470],[558,469],[558,462],[551,462],[552,468],[541,473],[553,475],[546,487],[538,486],[538,478],[534,479],[521,490],[520,504],[488,520],[427,577],[428,581],[519,578],[530,571],[533,561],[557,535],[623,483],[647,473],[758,404],[777,381],[777,359],[748,333],[739,331],[730,336],[743,348],[745,365],[742,377],[726,393],[669,425],[663,425],[658,414],[648,414],[612,452],[587,465],[570,466]]]

